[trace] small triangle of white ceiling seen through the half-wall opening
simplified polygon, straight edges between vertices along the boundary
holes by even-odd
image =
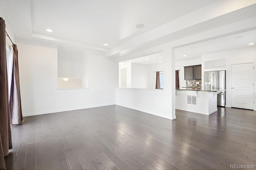
[[[148,59],[148,60],[146,60],[146,59]],[[146,64],[146,65],[163,64],[164,56],[163,56],[163,53],[161,52],[161,53],[152,54],[149,56],[144,56],[144,57],[135,58],[132,60],[127,60],[126,62],[132,62],[132,63],[137,63],[137,64]]]

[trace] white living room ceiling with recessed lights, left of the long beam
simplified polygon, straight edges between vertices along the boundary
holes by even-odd
[[[215,1],[1,0],[0,3],[10,15],[10,25],[18,38],[32,32],[112,48]],[[141,23],[145,27],[136,28]],[[53,32],[46,32],[47,28]],[[103,46],[105,43],[109,46]]]

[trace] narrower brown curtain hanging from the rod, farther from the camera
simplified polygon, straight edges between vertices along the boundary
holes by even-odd
[[[20,102],[20,78],[18,65],[17,45],[13,45],[13,67],[12,67],[12,86],[10,92],[10,119],[11,124],[21,124],[23,122],[21,102]]]

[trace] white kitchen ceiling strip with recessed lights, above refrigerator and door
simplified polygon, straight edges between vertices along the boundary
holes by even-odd
[[[248,45],[251,42],[254,42],[254,45]],[[256,30],[176,48],[175,59],[176,61],[191,60],[201,58],[203,54],[252,46],[256,46]],[[186,55],[186,57],[183,57],[183,55]]]

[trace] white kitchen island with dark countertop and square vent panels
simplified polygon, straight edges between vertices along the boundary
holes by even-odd
[[[217,94],[224,89],[176,89],[176,109],[210,115],[218,110]]]

